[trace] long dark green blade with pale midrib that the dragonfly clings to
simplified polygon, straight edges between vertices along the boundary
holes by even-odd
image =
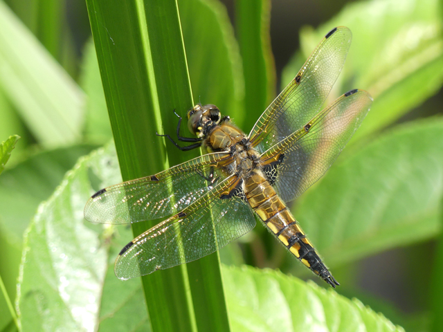
[[[154,1],[143,7],[129,2],[109,7],[105,1],[89,1],[88,8],[123,177],[159,172],[167,165],[164,141],[155,132],[174,133],[177,118],[172,111],[184,116],[192,107],[177,3],[163,1],[159,6]],[[192,156],[167,147],[170,165]],[[134,234],[140,234],[147,225],[133,228]],[[201,261],[218,264],[217,255]],[[222,288],[220,281],[219,277],[218,288]],[[196,305],[212,308],[213,302],[209,305],[206,296],[200,296],[210,291],[188,284],[186,266],[143,277],[143,284],[153,331],[193,331],[208,324],[212,315],[225,315],[227,321],[226,308],[224,313],[211,310],[209,317],[194,316],[195,291]]]

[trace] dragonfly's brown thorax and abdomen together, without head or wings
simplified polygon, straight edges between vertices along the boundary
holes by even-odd
[[[229,151],[233,163],[227,174],[237,174],[242,191],[254,212],[282,244],[316,275],[329,284],[338,284],[321,261],[296,219],[280,199],[262,172],[260,154],[253,149],[247,136],[231,122],[223,122],[208,133],[203,145],[208,152]],[[235,190],[235,188],[231,188]],[[229,193],[226,193],[226,197]]]

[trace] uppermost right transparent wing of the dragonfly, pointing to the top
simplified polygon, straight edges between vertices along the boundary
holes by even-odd
[[[351,40],[351,31],[343,26],[323,38],[255,123],[249,138],[258,151],[263,153],[314,118],[343,68]]]

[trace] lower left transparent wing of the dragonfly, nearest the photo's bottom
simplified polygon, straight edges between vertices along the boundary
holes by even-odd
[[[209,255],[255,226],[244,194],[221,199],[234,183],[231,176],[189,205],[129,242],[116,260],[120,279],[147,275]]]

